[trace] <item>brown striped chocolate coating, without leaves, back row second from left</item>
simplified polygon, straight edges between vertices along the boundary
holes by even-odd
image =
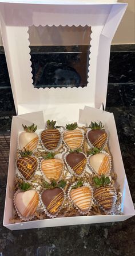
[[[54,150],[59,143],[61,133],[58,129],[46,129],[41,132],[41,140],[48,150]]]

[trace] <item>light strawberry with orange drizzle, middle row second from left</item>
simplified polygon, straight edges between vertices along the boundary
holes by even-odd
[[[47,154],[42,154],[43,160],[41,162],[41,170],[43,174],[45,174],[46,178],[50,181],[55,179],[58,181],[59,177],[61,177],[63,170],[63,162],[61,159],[54,158],[55,154],[49,152]]]

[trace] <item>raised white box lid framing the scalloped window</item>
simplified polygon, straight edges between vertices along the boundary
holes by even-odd
[[[102,103],[105,106],[110,43],[127,6],[126,3],[114,3],[116,1],[105,2],[0,1],[2,40],[18,114],[49,109],[52,106],[61,111],[65,111],[67,105],[71,110],[72,106],[100,108]],[[27,33],[32,25],[91,26],[87,86],[45,89],[33,86]]]

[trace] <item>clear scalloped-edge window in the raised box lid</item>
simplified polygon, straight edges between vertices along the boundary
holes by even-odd
[[[87,86],[90,33],[88,26],[31,26],[34,87]]]

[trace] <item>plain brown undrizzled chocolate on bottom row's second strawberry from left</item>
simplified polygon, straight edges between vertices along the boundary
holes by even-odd
[[[63,190],[60,188],[46,189],[45,191],[43,191],[41,194],[41,198],[42,198],[43,204],[45,204],[45,207],[47,208],[50,202],[54,200],[54,198],[62,192]],[[64,194],[62,194],[62,197],[64,198]]]

